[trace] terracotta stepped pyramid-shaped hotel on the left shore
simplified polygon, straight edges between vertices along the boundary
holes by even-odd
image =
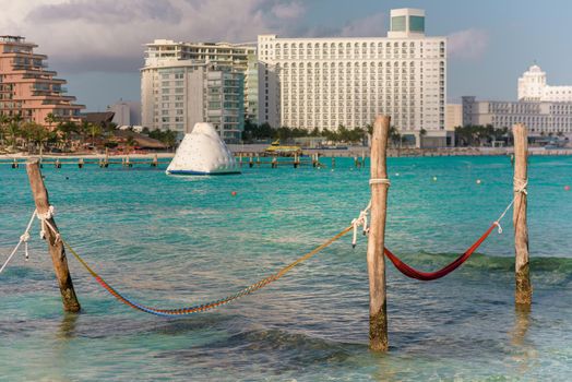
[[[65,95],[65,80],[47,70],[48,57],[34,52],[36,44],[21,36],[0,36],[0,114],[21,116],[46,127],[48,115],[59,120],[80,120],[83,105]]]

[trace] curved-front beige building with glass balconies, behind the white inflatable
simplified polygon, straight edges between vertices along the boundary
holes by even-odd
[[[165,60],[141,70],[142,124],[152,130],[191,132],[212,122],[227,142],[245,127],[245,74],[195,60]]]

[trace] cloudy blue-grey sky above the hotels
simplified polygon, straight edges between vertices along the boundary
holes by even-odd
[[[0,35],[48,55],[86,110],[140,99],[144,44],[386,36],[395,8],[426,11],[426,35],[448,37],[448,100],[516,99],[534,62],[551,85],[572,85],[569,0],[0,0]]]

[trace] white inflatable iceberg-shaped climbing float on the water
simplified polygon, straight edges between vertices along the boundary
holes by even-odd
[[[240,174],[233,153],[211,123],[200,122],[184,138],[175,153],[169,175]]]

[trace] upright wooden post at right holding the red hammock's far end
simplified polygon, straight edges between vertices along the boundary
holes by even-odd
[[[522,123],[513,126],[514,136],[514,276],[516,290],[514,301],[517,306],[529,306],[533,299],[528,260],[528,228],[526,226],[526,189],[528,138],[526,127]]]

